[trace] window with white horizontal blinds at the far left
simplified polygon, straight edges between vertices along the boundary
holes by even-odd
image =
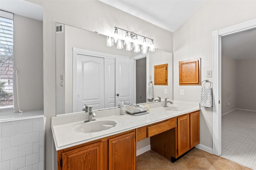
[[[0,111],[13,110],[13,14],[0,11]],[[9,112],[10,113],[10,112]]]

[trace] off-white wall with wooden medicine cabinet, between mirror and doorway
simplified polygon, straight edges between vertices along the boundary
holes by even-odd
[[[206,1],[174,32],[174,99],[200,102],[200,86],[180,86],[178,62],[201,58],[201,78],[212,70],[212,32],[256,18],[256,1]],[[212,78],[207,78],[212,81]],[[180,95],[184,89],[184,96]],[[200,144],[212,148],[212,108],[201,107]]]

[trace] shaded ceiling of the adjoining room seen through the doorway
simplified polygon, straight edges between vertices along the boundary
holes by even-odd
[[[222,55],[233,59],[256,58],[256,28],[222,37]]]

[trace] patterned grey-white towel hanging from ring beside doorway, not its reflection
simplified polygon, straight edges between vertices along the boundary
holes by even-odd
[[[202,86],[200,106],[212,107],[212,91],[210,87]]]

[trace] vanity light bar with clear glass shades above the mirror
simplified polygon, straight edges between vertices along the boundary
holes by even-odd
[[[141,36],[139,34],[135,34],[134,32],[130,32],[127,30],[124,30],[122,28],[114,27],[114,36],[110,37],[107,36],[107,46],[112,47],[114,43],[116,44],[116,47],[118,49],[124,48],[124,45],[126,46],[126,51],[131,51],[132,48],[134,48],[134,52],[138,53],[142,51],[142,54],[146,54],[147,51],[155,51],[155,46],[154,46],[154,40],[151,38],[147,38],[145,36]],[[118,29],[124,31],[124,36],[122,36],[122,31],[121,34],[119,32],[118,34]],[[138,38],[140,37],[140,38]],[[150,44],[147,43],[147,39],[150,40]],[[140,50],[141,47],[141,50]]]

